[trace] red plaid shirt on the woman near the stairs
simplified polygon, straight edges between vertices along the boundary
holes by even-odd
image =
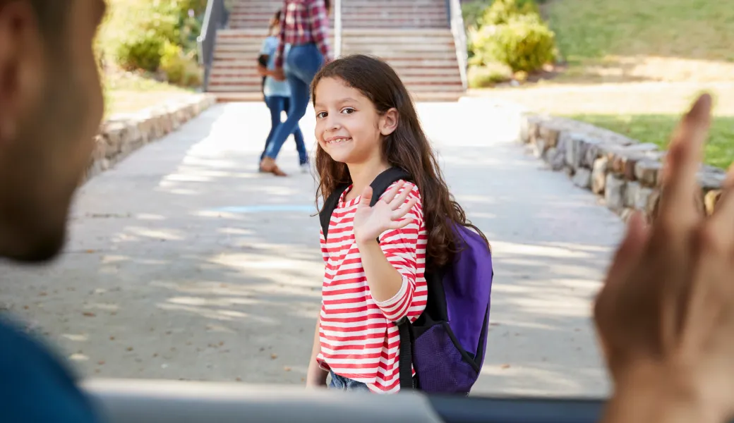
[[[324,0],[284,0],[283,23],[275,52],[275,67],[283,67],[283,49],[286,44],[316,43],[324,60],[331,60],[329,45],[329,13]]]

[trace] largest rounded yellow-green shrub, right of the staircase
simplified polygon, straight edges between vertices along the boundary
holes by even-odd
[[[540,70],[556,58],[555,34],[539,15],[518,15],[501,25],[485,25],[471,44],[476,60],[504,63],[515,72]]]

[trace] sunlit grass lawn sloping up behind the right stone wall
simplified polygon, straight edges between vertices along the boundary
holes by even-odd
[[[665,148],[697,93],[716,99],[705,161],[734,162],[734,2],[547,0],[566,61],[556,78],[470,90]]]

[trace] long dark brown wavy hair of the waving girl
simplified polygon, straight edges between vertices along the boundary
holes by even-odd
[[[311,100],[316,104],[316,86],[324,78],[338,78],[348,87],[359,90],[371,100],[377,113],[385,114],[396,108],[399,114],[396,130],[382,140],[382,154],[393,167],[399,167],[413,178],[421,191],[422,207],[428,245],[426,254],[432,265],[440,267],[451,262],[458,250],[457,235],[453,224],[469,227],[487,237],[466,218],[464,209],[448,191],[446,181],[438,166],[413,100],[392,67],[380,59],[355,54],[336,59],[319,70],[311,83]],[[316,147],[316,172],[319,185],[316,188],[316,204],[326,199],[342,184],[352,183],[346,163],[333,160],[321,146]]]

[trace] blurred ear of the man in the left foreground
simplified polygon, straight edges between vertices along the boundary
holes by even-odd
[[[43,94],[44,47],[29,1],[0,6],[0,142],[17,136],[21,118]]]

